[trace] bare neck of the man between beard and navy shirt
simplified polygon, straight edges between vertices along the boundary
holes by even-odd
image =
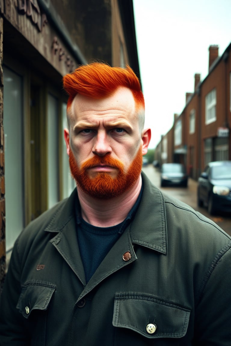
[[[96,199],[77,185],[82,218],[93,226],[110,227],[122,222],[135,204],[142,185],[141,175],[130,190],[109,200]]]

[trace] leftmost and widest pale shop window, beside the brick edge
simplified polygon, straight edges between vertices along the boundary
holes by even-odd
[[[6,249],[24,228],[23,77],[3,66]]]

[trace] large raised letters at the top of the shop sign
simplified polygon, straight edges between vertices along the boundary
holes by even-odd
[[[47,18],[45,13],[41,13],[37,0],[17,0],[15,6],[20,14],[30,18],[38,30],[42,31],[45,24],[47,24]]]

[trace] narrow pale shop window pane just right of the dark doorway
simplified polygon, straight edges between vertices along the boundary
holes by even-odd
[[[47,183],[48,209],[59,201],[59,116],[58,100],[48,94],[47,110]]]

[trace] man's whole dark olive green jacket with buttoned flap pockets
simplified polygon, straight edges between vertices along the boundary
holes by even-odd
[[[142,178],[135,218],[87,284],[76,190],[20,234],[1,346],[231,345],[231,238]]]

